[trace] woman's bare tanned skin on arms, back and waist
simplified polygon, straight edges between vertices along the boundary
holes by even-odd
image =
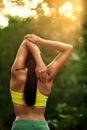
[[[40,50],[37,47],[37,44],[52,47],[59,50],[61,53],[58,54],[53,61],[46,66],[41,58]],[[25,40],[22,42],[18,50],[16,59],[11,69],[10,89],[23,92],[27,75],[27,71],[23,68],[26,67],[26,58],[28,52],[30,52],[36,61],[35,72],[37,75],[38,89],[42,94],[49,96],[53,79],[67,61],[71,51],[72,45],[45,40],[35,34],[26,35]],[[19,105],[15,103],[13,103],[13,105],[16,120],[25,119],[46,121],[44,117],[45,107],[28,107],[26,105]]]

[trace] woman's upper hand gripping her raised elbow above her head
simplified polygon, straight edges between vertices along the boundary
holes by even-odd
[[[42,38],[38,37],[35,34],[27,34],[24,39],[29,40],[30,42],[34,43],[34,44],[38,44],[42,41]]]

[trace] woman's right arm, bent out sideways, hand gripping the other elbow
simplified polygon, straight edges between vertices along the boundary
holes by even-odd
[[[49,72],[50,79],[53,79],[55,75],[60,71],[60,69],[63,67],[65,62],[67,61],[73,46],[70,44],[57,42],[57,41],[51,41],[51,40],[45,40],[42,39],[35,34],[28,34],[25,36],[28,40],[32,41],[35,44],[43,44],[45,46],[49,46],[51,48],[54,48],[58,51],[60,51],[60,54],[58,54],[53,61],[48,64],[47,70]]]

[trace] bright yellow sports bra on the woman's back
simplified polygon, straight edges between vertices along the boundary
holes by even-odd
[[[23,92],[17,92],[10,90],[11,92],[11,97],[12,97],[12,102],[20,105],[26,105],[24,100],[23,100]],[[48,96],[43,95],[40,93],[37,87],[37,92],[36,92],[36,103],[33,106],[46,106]]]

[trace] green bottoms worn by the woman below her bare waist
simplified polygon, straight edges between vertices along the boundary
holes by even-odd
[[[50,130],[47,122],[36,120],[15,120],[11,130]]]

